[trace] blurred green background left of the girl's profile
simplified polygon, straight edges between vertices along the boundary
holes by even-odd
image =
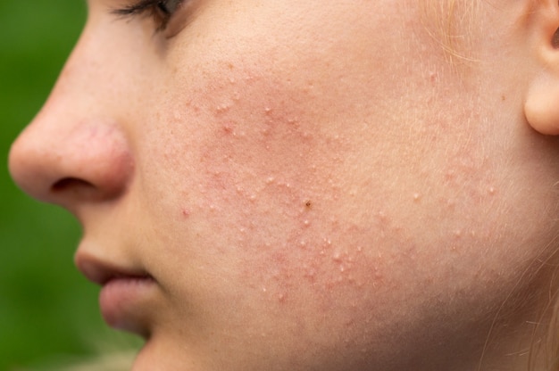
[[[45,102],[85,19],[82,0],[0,2],[0,370],[57,369],[134,343],[107,329],[98,289],[72,264],[78,223],[23,194],[5,165],[11,142]]]

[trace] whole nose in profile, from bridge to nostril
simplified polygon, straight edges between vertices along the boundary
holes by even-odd
[[[121,123],[104,104],[111,97],[92,89],[100,64],[81,54],[77,47],[9,155],[10,172],[23,191],[76,213],[84,203],[119,197],[133,169]]]

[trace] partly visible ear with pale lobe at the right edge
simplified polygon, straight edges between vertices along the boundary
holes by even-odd
[[[530,0],[531,1],[531,0]],[[531,79],[524,115],[544,135],[559,135],[559,0],[536,0],[531,43],[539,71]]]

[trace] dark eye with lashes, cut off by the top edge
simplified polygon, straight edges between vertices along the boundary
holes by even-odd
[[[139,15],[147,15],[153,18],[156,24],[156,31],[163,31],[167,28],[167,24],[171,21],[171,18],[175,12],[177,12],[180,6],[185,0],[176,0],[174,9],[171,10],[169,2],[172,0],[139,0],[136,4],[130,4],[120,9],[113,10],[114,14],[122,17],[136,17]]]

